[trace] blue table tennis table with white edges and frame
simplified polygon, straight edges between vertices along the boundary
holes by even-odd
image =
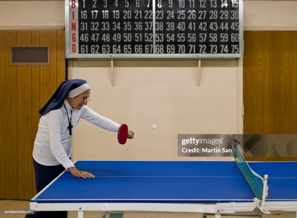
[[[248,162],[268,174],[265,208],[297,211],[297,162]],[[95,178],[62,172],[30,201],[37,211],[259,214],[261,202],[235,161],[76,161]],[[263,205],[262,205],[263,206]]]

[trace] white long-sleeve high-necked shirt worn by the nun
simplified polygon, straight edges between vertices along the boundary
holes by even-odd
[[[109,131],[117,132],[119,130],[119,124],[97,114],[86,105],[80,110],[76,110],[71,108],[66,99],[64,104],[69,120],[72,110],[72,134],[80,118]],[[69,126],[67,112],[63,105],[60,109],[52,110],[40,117],[33,148],[33,158],[37,163],[46,166],[62,164],[66,169],[74,167],[69,159],[71,155],[71,135],[69,135],[69,129],[67,128]]]

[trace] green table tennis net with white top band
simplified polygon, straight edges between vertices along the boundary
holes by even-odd
[[[249,167],[239,150],[240,147],[236,144],[236,139],[233,141],[233,146],[233,154],[237,166],[241,170],[249,186],[252,188],[255,196],[258,199],[262,200],[264,179]]]

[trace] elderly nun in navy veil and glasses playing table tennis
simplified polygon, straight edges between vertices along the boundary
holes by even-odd
[[[40,121],[33,149],[36,189],[40,192],[65,169],[81,178],[94,178],[94,175],[76,169],[70,160],[71,136],[80,118],[101,128],[117,132],[120,125],[91,110],[90,88],[85,80],[71,79],[62,82],[53,96],[40,109]],[[134,133],[128,131],[128,138]],[[26,217],[65,217],[67,211],[36,212]]]

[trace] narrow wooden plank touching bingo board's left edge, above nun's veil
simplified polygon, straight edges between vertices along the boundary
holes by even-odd
[[[57,88],[66,79],[65,31],[57,30]]]

